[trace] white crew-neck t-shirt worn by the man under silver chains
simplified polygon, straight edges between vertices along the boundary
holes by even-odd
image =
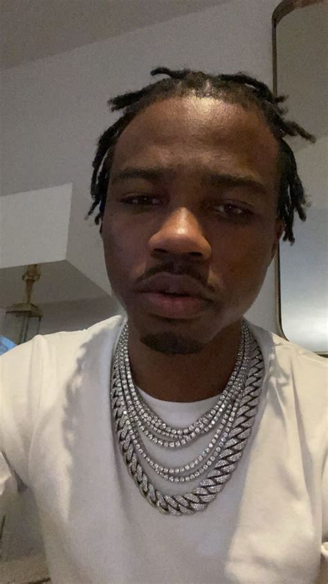
[[[53,583],[315,583],[320,556],[328,562],[327,361],[250,325],[265,377],[244,454],[206,510],[161,515],[129,476],[111,423],[111,362],[125,322],[39,335],[0,359],[1,500],[15,492],[15,473],[33,490]],[[141,393],[181,427],[217,401]],[[174,456],[198,455],[204,438],[149,452],[174,466]],[[145,470],[162,492],[186,491]]]

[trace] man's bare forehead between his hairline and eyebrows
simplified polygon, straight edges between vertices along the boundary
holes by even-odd
[[[261,112],[215,98],[168,98],[138,113],[120,135],[111,173],[131,164],[163,164],[196,173],[247,171],[277,178],[278,144]]]

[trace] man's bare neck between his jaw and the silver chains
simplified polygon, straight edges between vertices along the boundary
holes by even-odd
[[[134,384],[167,402],[197,402],[219,395],[237,361],[242,320],[221,330],[201,352],[167,355],[140,342],[129,325],[129,360]]]

